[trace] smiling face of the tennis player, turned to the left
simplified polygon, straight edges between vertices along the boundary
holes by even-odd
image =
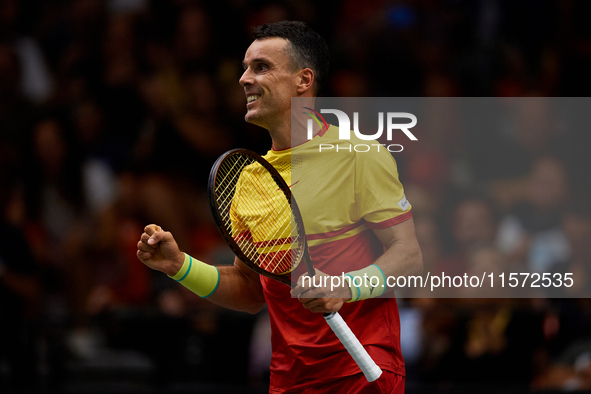
[[[283,38],[255,40],[244,55],[240,85],[246,94],[244,119],[266,129],[289,122],[291,97],[297,96],[298,71]]]

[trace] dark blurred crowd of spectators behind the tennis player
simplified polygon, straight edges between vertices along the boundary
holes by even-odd
[[[253,26],[303,20],[323,35],[325,96],[574,97],[591,92],[589,11],[583,0],[0,0],[0,392],[108,379],[264,387],[265,313],[210,305],[135,255],[158,223],[184,251],[232,262],[206,183],[222,152],[270,148],[243,120]],[[395,156],[426,270],[573,272],[589,288],[589,135],[553,127],[538,104],[513,128],[450,128]],[[399,301],[410,389],[591,389],[590,299],[420,296]]]

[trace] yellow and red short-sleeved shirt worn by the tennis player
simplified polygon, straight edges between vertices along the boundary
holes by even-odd
[[[291,187],[314,266],[330,275],[373,264],[384,247],[372,229],[396,225],[412,215],[392,155],[381,146],[369,152],[347,148],[357,143],[377,144],[339,140],[338,128],[330,126],[302,145],[270,150],[264,156]],[[320,144],[343,149],[319,152]],[[303,273],[305,269],[298,267],[292,280]],[[272,326],[271,392],[360,372],[321,314],[304,309],[284,284],[260,279]],[[340,314],[382,369],[405,374],[394,298],[347,303]]]

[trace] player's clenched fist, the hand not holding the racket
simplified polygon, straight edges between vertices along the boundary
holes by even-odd
[[[137,257],[148,267],[174,276],[185,260],[172,234],[156,224],[149,224],[137,243]]]

